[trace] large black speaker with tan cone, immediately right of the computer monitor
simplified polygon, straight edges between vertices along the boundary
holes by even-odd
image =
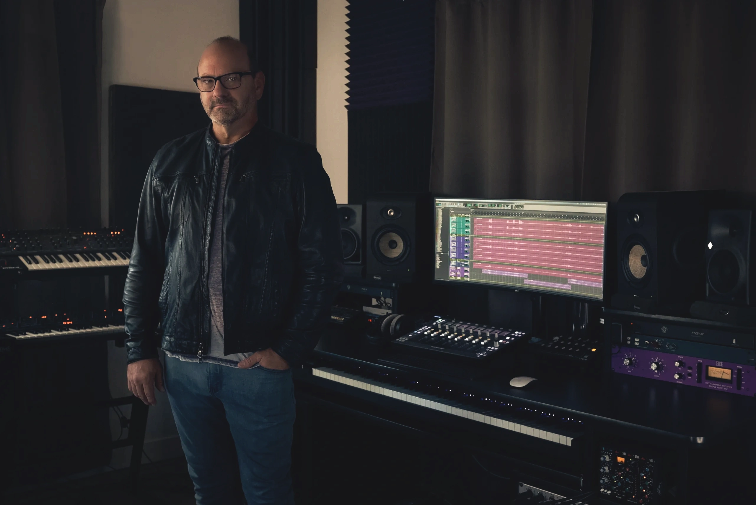
[[[687,311],[705,292],[708,211],[723,192],[626,193],[616,207],[617,286],[612,306]]]

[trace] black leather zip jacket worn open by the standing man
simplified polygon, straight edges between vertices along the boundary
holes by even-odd
[[[224,353],[271,347],[293,366],[318,343],[342,279],[330,180],[313,146],[259,123],[230,156]],[[218,165],[207,128],[167,143],[147,171],[123,294],[129,363],[155,358],[158,343],[194,356],[209,349]]]

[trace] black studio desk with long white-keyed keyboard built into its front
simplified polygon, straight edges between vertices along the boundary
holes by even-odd
[[[585,503],[717,503],[705,497],[722,493],[753,497],[745,490],[754,478],[748,457],[756,448],[753,398],[603,373],[601,363],[563,366],[533,359],[522,348],[496,362],[464,367],[399,355],[364,342],[360,334],[331,331],[294,374],[305,470],[317,464],[307,462],[312,442],[307,439],[317,436],[307,424],[325,409],[383,433],[405,433],[488,458],[480,473],[511,476],[513,483],[503,486],[515,494],[524,482],[567,497],[594,491]],[[538,382],[511,387],[517,375]],[[628,461],[640,457],[646,467],[635,469],[636,476],[640,471],[639,479],[653,478],[657,495],[617,502],[601,494],[606,490],[600,491],[600,482],[615,472],[607,462],[614,463],[617,454],[629,454]],[[623,479],[624,470],[632,469],[617,470],[615,479]],[[311,468],[305,471],[305,489],[317,485],[313,475]]]

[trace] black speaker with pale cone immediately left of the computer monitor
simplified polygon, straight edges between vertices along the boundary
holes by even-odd
[[[404,282],[430,275],[433,223],[427,193],[371,196],[365,212],[368,279]]]

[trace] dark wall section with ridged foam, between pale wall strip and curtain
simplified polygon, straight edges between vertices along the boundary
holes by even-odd
[[[435,3],[349,2],[349,203],[429,187]]]

